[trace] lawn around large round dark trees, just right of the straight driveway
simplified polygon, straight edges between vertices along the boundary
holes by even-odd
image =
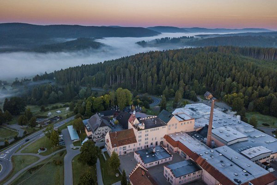
[[[73,174],[73,185],[76,185],[79,183],[80,176],[86,172],[86,170],[90,170],[92,174],[94,174],[93,179],[95,184],[97,184],[97,174],[96,174],[96,167],[95,165],[93,167],[89,167],[88,165],[83,165],[78,162],[78,157],[80,154],[75,156],[72,160],[72,174]]]

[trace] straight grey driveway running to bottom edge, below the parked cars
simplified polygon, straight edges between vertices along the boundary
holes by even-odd
[[[62,130],[62,137],[66,145],[66,155],[64,156],[64,184],[73,185],[72,160],[80,153],[80,149],[73,150],[68,129]]]

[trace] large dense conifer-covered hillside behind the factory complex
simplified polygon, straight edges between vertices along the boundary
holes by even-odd
[[[270,48],[206,47],[148,52],[37,75],[33,80],[55,79],[67,87],[71,84],[69,92],[80,85],[110,86],[164,94],[167,98],[181,94],[193,99],[195,94],[211,91],[236,107],[234,110],[250,109],[277,116],[277,70],[272,67],[276,61],[239,54],[264,57],[273,52],[276,59],[276,49]]]

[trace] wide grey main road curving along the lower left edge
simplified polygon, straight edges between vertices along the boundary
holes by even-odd
[[[68,121],[72,121],[74,119],[73,117],[67,118],[63,121],[60,121],[56,124],[54,124],[54,127],[60,127],[63,124],[65,124]],[[21,148],[22,145],[26,144],[25,140],[29,139],[31,141],[37,140],[40,137],[42,137],[44,135],[43,131],[44,129],[41,129],[33,134],[30,134],[29,136],[25,137],[24,139],[22,139],[21,141],[15,143],[14,145],[10,146],[9,148],[5,149],[4,151],[0,152],[0,164],[2,165],[3,169],[0,172],[0,182],[7,176],[9,175],[10,171],[13,168],[12,162],[11,162],[11,156],[14,154],[15,151],[17,151],[17,149]]]

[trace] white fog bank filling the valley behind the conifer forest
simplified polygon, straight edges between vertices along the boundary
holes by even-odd
[[[81,64],[93,64],[105,60],[117,59],[122,56],[130,56],[139,52],[163,50],[167,48],[141,47],[135,42],[150,41],[163,37],[194,36],[203,33],[162,33],[154,37],[108,37],[98,39],[98,42],[106,44],[100,49],[87,49],[76,52],[11,52],[0,54],[0,79],[14,79],[15,77],[30,78],[45,71],[51,72]],[[209,33],[205,33],[209,34]]]

